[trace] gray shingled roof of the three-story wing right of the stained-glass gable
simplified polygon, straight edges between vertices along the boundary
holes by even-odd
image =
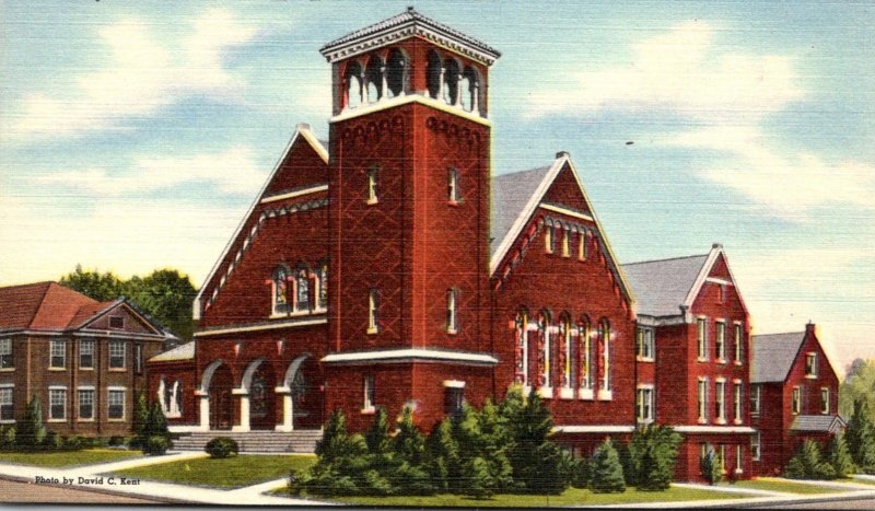
[[[656,317],[679,315],[680,305],[705,260],[708,254],[622,265],[638,300],[638,313]]]

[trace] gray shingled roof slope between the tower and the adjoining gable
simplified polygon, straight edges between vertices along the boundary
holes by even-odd
[[[549,171],[550,165],[492,177],[490,257],[495,254]]]

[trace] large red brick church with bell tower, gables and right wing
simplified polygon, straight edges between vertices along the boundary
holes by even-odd
[[[586,455],[639,423],[751,473],[749,320],[722,247],[620,266],[571,156],[493,176],[489,45],[412,9],[322,48],[329,140],[299,125],[149,362],[176,432],[423,430],[520,384]],[[657,375],[660,375],[657,378]],[[657,406],[658,403],[658,406]]]

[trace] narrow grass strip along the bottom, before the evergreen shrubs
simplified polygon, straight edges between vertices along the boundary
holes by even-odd
[[[288,496],[284,490],[273,491],[276,496]],[[497,495],[491,499],[471,499],[457,495],[435,495],[432,497],[336,497],[331,500],[353,506],[405,506],[412,508],[544,508],[569,506],[608,506],[630,504],[638,502],[662,502],[685,500],[737,499],[749,497],[743,493],[712,491],[708,489],[688,489],[672,487],[666,491],[638,491],[628,488],[623,493],[593,493],[590,490],[570,488],[562,495]],[[312,496],[315,500],[328,500]]]

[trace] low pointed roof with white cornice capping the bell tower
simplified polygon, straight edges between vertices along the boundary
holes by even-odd
[[[501,57],[501,53],[488,44],[425,18],[412,7],[400,14],[339,37],[323,46],[319,53],[329,62],[335,62],[413,36],[439,43],[487,66]]]

